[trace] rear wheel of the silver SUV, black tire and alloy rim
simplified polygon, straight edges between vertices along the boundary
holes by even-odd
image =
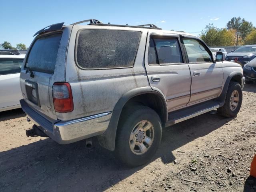
[[[142,130],[147,128],[149,129],[142,133]],[[149,145],[146,142],[147,138],[152,138],[152,142],[147,140],[150,143]],[[118,124],[115,145],[116,155],[127,166],[140,166],[149,162],[154,156],[161,138],[162,122],[158,114],[147,106],[132,106],[122,114]],[[142,144],[146,147],[145,152],[142,151],[145,148],[139,147]]]

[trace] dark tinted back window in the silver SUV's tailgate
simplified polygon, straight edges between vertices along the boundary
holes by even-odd
[[[62,34],[38,38],[28,55],[26,67],[29,70],[53,74]]]

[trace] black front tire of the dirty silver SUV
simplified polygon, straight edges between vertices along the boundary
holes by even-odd
[[[232,100],[231,98],[234,92],[236,93],[234,97],[237,100],[236,107],[234,106],[234,103],[236,103],[236,101],[234,101],[234,99]],[[238,95],[238,98],[236,97],[237,95]],[[233,105],[230,104],[231,100],[233,101]],[[218,108],[217,111],[220,115],[227,118],[236,117],[236,115],[238,114],[241,108],[242,100],[243,100],[243,94],[242,94],[242,88],[240,84],[238,82],[230,82],[228,86],[228,91],[226,94],[225,103],[222,107]]]

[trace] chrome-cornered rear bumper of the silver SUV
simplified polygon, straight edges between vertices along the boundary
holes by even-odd
[[[26,116],[59,144],[73,143],[103,134],[112,116],[112,112],[106,112],[70,121],[52,122],[30,108],[23,99],[20,100],[20,104]]]

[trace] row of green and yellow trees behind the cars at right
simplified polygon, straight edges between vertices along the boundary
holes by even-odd
[[[208,46],[256,44],[256,27],[244,18],[233,17],[227,23],[226,28],[220,29],[213,24],[206,25],[200,34],[200,38]]]

